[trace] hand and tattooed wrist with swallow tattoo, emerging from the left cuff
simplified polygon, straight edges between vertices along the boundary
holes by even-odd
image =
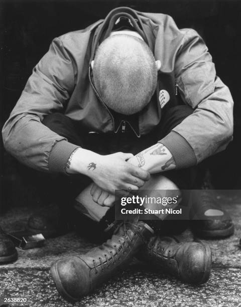
[[[127,196],[129,190],[138,190],[150,179],[149,172],[131,165],[127,161],[132,154],[116,152],[101,156],[91,150],[77,148],[71,159],[68,174],[83,174],[103,191],[119,196]]]

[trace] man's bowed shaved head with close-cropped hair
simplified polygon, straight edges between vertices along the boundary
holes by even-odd
[[[157,86],[153,53],[135,36],[110,36],[96,51],[93,80],[108,107],[126,115],[137,113],[149,103]]]

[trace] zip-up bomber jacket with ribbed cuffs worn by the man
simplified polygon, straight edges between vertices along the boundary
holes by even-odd
[[[137,137],[158,125],[162,108],[180,103],[178,89],[183,103],[194,111],[160,140],[177,168],[195,165],[225,149],[232,139],[233,101],[216,76],[202,38],[192,29],[179,30],[168,15],[118,8],[105,20],[55,38],[33,69],[3,128],[5,148],[20,162],[45,172],[64,172],[77,146],[42,124],[44,116],[56,111],[89,131],[117,132],[110,110],[95,92],[90,62],[101,41],[123,19],[162,63],[156,94],[139,115]]]

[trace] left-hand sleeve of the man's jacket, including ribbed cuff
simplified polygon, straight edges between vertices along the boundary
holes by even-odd
[[[42,124],[45,115],[61,111],[75,85],[71,54],[59,38],[33,70],[22,95],[3,127],[5,148],[36,170],[64,172],[77,147]]]

